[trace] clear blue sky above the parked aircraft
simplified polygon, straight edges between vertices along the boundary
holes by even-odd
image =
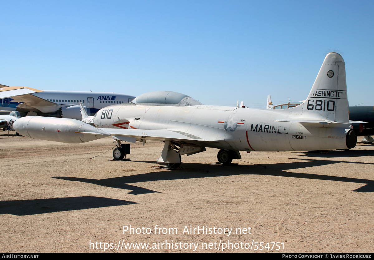
[[[265,108],[304,100],[343,52],[350,106],[373,106],[373,1],[0,1],[0,84]]]

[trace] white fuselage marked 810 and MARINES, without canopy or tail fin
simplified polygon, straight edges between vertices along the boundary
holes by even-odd
[[[94,119],[98,128],[168,130],[201,138],[202,146],[239,151],[347,149],[348,124],[275,121],[289,110],[226,106],[108,106]],[[174,140],[175,141],[175,140]],[[195,144],[198,143],[194,142]]]

